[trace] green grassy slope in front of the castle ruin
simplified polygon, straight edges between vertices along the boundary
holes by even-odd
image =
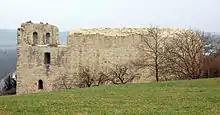
[[[0,115],[220,115],[220,79],[128,84],[0,97]]]

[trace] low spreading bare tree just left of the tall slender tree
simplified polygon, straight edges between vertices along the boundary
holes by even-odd
[[[109,79],[113,84],[127,84],[140,77],[137,70],[131,68],[128,64],[115,65],[109,72]]]

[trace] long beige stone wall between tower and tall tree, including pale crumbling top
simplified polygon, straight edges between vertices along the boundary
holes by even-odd
[[[129,31],[130,30],[130,31]],[[115,31],[115,32],[114,32]],[[89,66],[96,71],[106,71],[114,65],[127,64],[139,58],[138,45],[143,29],[98,29],[80,30],[68,36],[69,74],[79,72],[80,66]],[[147,72],[147,70],[145,70]],[[144,76],[136,82],[149,81]]]

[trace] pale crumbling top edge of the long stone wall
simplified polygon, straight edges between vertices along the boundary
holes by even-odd
[[[78,29],[78,30],[73,30],[68,33],[67,44],[69,46],[73,46],[73,45],[79,45],[79,43],[82,43],[83,41],[87,41],[89,39],[96,40],[92,36],[104,36],[103,39],[105,40],[105,39],[108,39],[107,37],[112,37],[113,39],[117,39],[117,37],[126,37],[126,36],[132,36],[132,35],[146,35],[149,29],[151,29],[151,27],[148,27],[148,28]],[[188,29],[180,29],[180,28],[158,28],[158,30],[161,31],[163,36],[172,36],[175,33],[183,32],[183,31],[191,31]],[[85,38],[86,36],[87,38]],[[91,37],[88,37],[88,36],[91,36]],[[78,40],[78,42],[76,40]]]

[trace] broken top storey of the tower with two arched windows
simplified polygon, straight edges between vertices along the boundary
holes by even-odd
[[[59,30],[56,26],[43,22],[31,21],[21,24],[18,28],[18,45],[50,45],[59,44]]]

